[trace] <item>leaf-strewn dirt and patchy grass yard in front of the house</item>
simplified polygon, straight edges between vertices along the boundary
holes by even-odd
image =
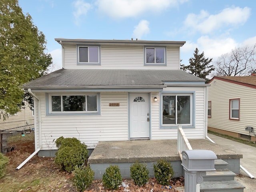
[[[34,152],[32,142],[16,144],[16,150],[8,152],[9,164],[6,176],[0,179],[0,192],[76,192],[72,184],[72,174],[60,172],[54,164],[54,158],[34,156],[20,170],[20,165],[30,154]],[[162,186],[150,179],[144,187],[135,186],[132,180],[123,180],[126,188],[120,186],[112,192],[178,192],[175,188],[184,186],[184,179],[174,180],[170,186]],[[101,180],[94,180],[92,186],[85,192],[108,192]]]

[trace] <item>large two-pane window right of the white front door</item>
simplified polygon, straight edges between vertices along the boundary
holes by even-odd
[[[162,96],[162,125],[192,125],[192,95]]]

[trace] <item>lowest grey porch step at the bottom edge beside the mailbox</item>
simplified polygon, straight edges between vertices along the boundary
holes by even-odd
[[[237,181],[204,181],[200,184],[200,192],[243,192],[244,186]]]

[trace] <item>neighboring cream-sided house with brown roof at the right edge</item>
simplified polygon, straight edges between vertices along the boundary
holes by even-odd
[[[216,76],[209,84],[208,130],[255,142],[256,74]]]

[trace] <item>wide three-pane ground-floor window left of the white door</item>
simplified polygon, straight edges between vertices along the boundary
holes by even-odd
[[[97,112],[97,95],[50,96],[52,112]]]

